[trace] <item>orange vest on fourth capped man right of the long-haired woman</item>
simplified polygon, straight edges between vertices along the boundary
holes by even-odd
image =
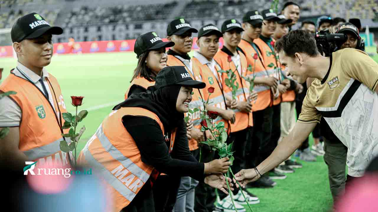
[[[264,60],[261,57],[262,54],[257,48],[257,50],[255,50],[251,43],[243,39],[240,41],[238,47],[245,53],[248,66],[251,65],[252,68],[255,68],[256,77],[269,77],[269,74],[266,71],[265,66],[263,65]],[[258,54],[260,57],[256,60],[256,62],[253,59],[254,54]],[[253,78],[253,72],[248,71],[247,69],[247,76],[249,78]],[[252,104],[252,111],[261,111],[271,105],[273,100],[271,96],[270,86],[263,84],[255,85],[253,90],[257,92],[257,100],[256,103]]]

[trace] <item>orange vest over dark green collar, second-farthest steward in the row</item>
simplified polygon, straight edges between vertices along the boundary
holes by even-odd
[[[272,40],[276,42],[273,38]],[[281,67],[281,63],[279,60],[276,60],[274,54],[268,53],[274,52],[273,46],[271,46],[270,43],[265,43],[261,38],[254,39],[253,43],[255,43],[262,51],[261,53],[264,60],[264,66],[266,68],[266,71],[268,71],[269,76],[276,77],[277,79],[279,79],[279,81],[281,81],[282,76],[281,73],[278,71],[278,67]],[[273,63],[274,66],[270,68],[268,67],[268,65],[270,65],[271,63]],[[277,105],[279,103],[281,103],[281,94],[276,100],[273,101],[273,105]]]

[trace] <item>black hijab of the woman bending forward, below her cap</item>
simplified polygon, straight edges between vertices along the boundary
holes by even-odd
[[[181,85],[170,85],[156,89],[150,86],[147,92],[132,94],[127,100],[116,105],[113,110],[138,107],[155,113],[164,125],[164,131],[176,128],[184,119],[184,114],[176,110],[176,101]]]

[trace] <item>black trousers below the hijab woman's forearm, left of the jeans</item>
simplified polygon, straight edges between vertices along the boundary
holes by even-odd
[[[180,181],[180,176],[172,175],[160,175],[156,179],[152,187],[156,212],[172,212],[176,203]]]

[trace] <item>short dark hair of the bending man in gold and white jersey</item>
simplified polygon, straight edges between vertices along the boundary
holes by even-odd
[[[289,57],[294,57],[296,52],[306,53],[310,57],[319,54],[314,35],[300,29],[291,31],[277,40],[274,49],[276,52],[283,50]]]

